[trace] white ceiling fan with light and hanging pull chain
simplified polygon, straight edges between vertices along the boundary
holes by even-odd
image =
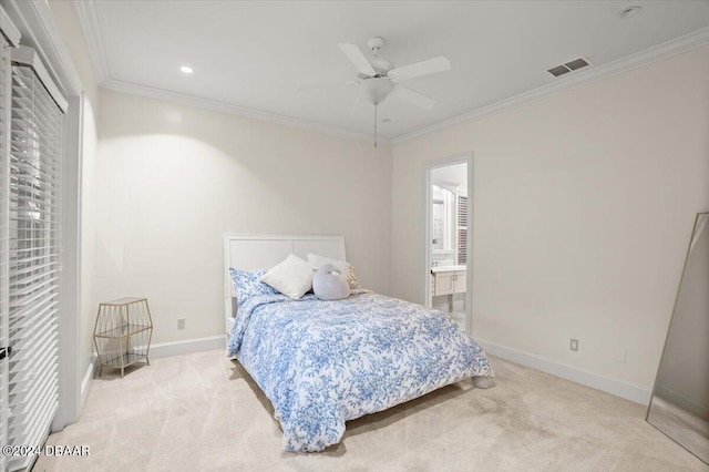
[[[379,58],[378,53],[384,45],[383,38],[374,37],[367,41],[372,50],[372,60],[368,60],[357,44],[340,43],[338,47],[347,59],[357,68],[357,80],[336,85],[357,85],[361,91],[360,98],[366,98],[374,105],[374,147],[377,146],[377,106],[392,94],[424,110],[431,110],[435,100],[401,84],[401,81],[422,75],[434,74],[451,69],[451,61],[439,55],[425,61],[394,68],[390,61]],[[317,88],[317,86],[316,86]],[[359,102],[359,99],[358,99]],[[357,106],[357,103],[354,106]],[[352,109],[354,109],[352,106]]]

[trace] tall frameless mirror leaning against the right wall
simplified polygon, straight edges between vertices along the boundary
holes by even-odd
[[[647,421],[709,464],[709,213],[695,222]]]

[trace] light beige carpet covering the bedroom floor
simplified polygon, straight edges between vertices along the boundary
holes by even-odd
[[[273,409],[222,351],[95,379],[81,420],[49,444],[86,458],[34,471],[708,471],[645,422],[645,408],[491,358],[496,387],[445,387],[347,423],[323,453],[284,452]]]

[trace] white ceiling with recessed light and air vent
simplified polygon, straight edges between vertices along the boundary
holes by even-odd
[[[643,8],[640,14],[618,17],[634,4]],[[358,44],[369,54],[367,40],[383,37],[380,57],[397,66],[445,55],[451,71],[405,82],[434,98],[433,110],[395,96],[379,106],[379,133],[389,140],[709,42],[707,0],[100,0],[75,6],[107,88],[177,93],[212,107],[337,134],[371,136],[373,106],[361,101],[350,112],[356,86],[299,89],[356,79],[338,43]],[[561,79],[546,72],[577,57],[593,65]],[[182,64],[192,65],[194,74],[181,73]]]

